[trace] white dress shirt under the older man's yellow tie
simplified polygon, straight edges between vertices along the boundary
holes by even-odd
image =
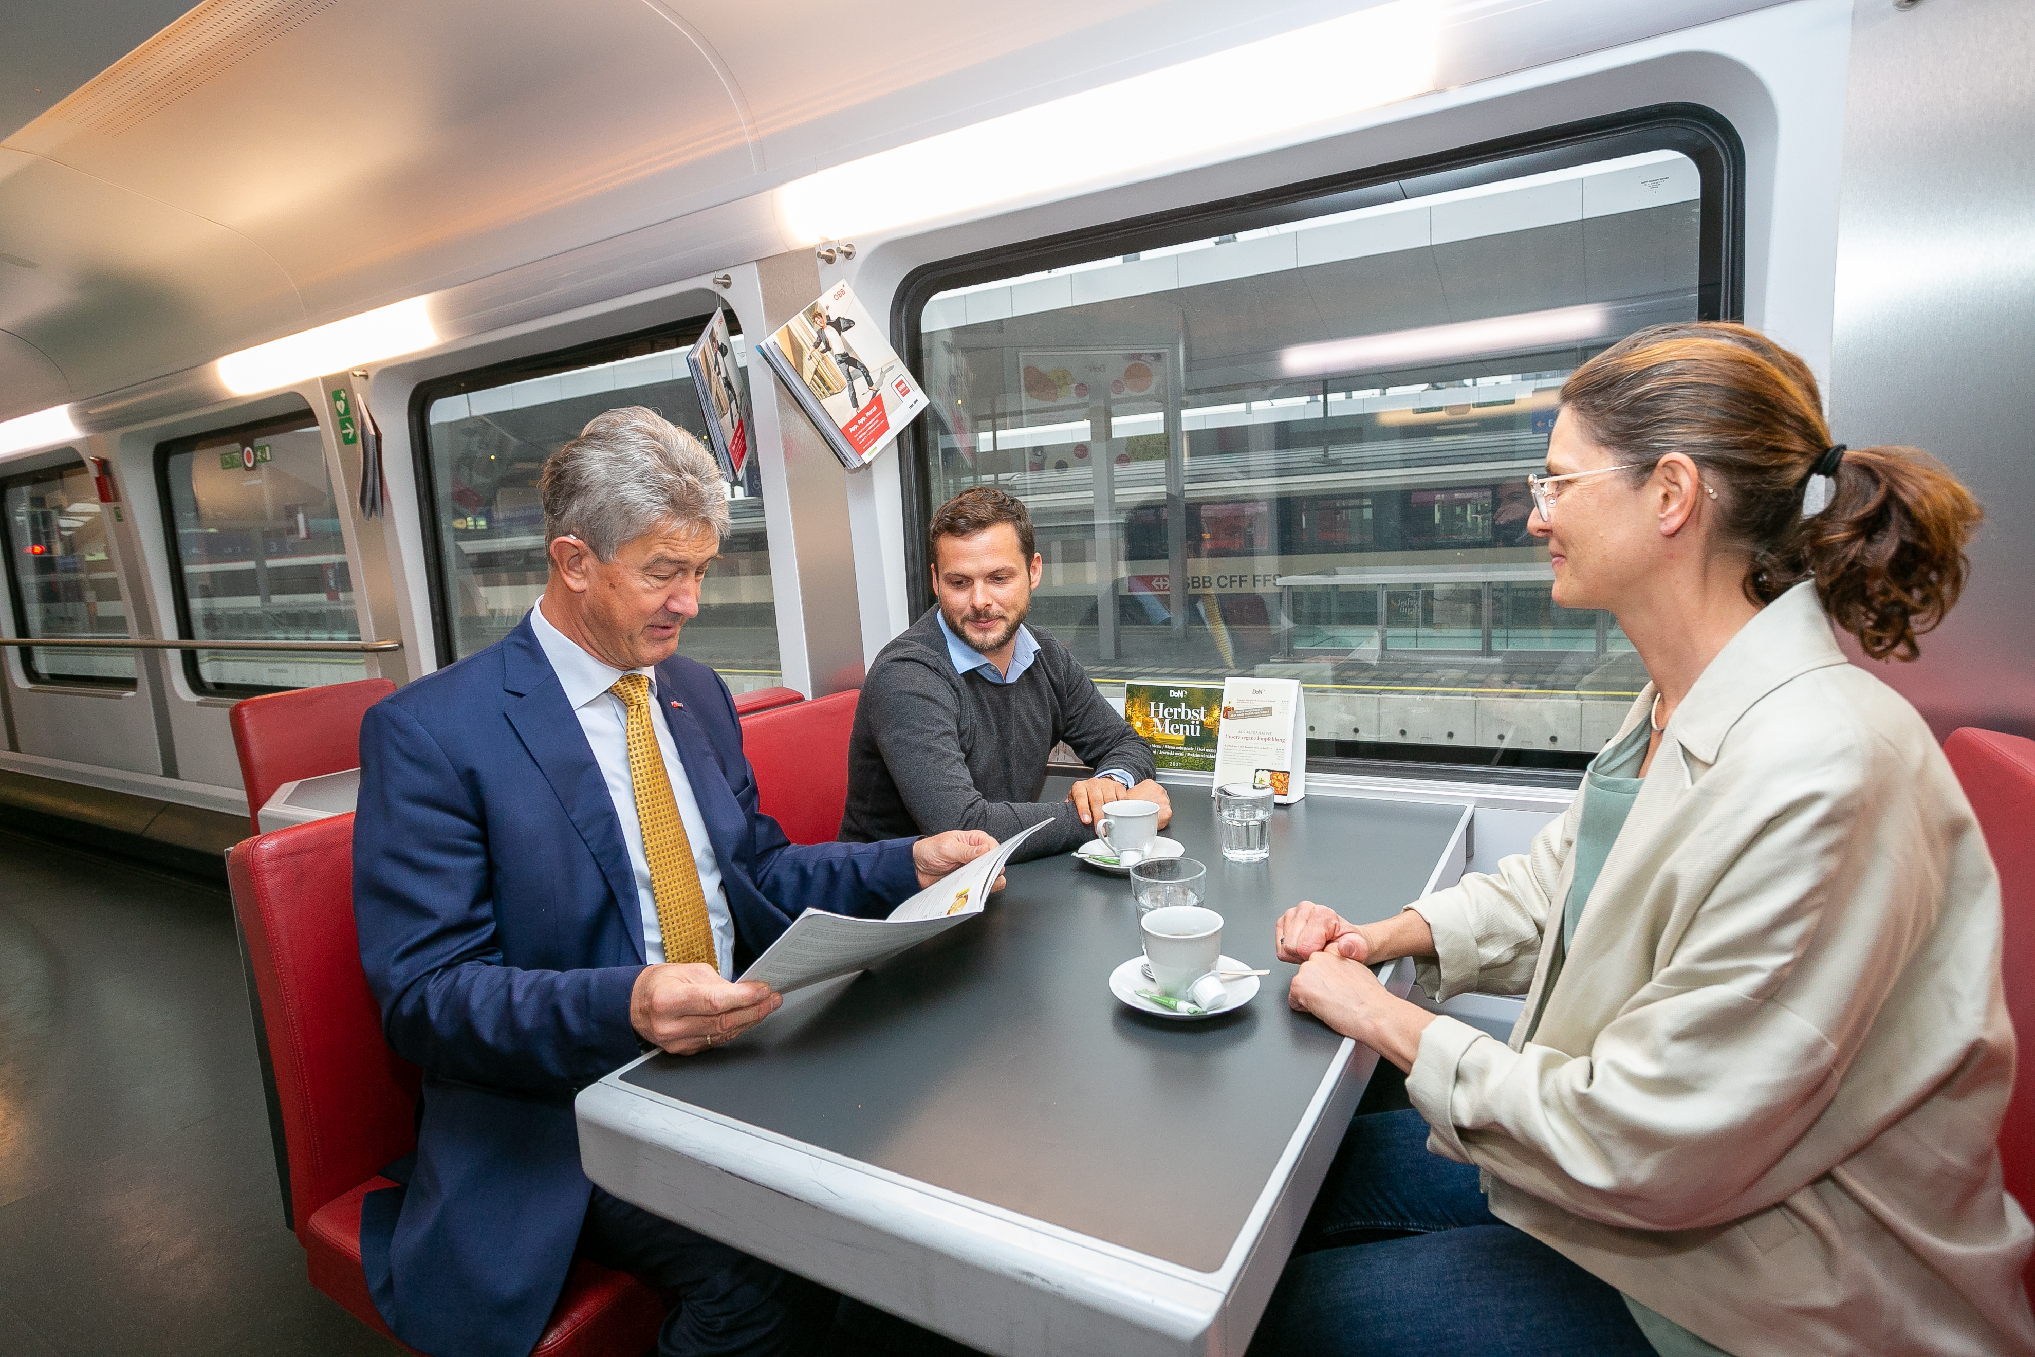
[[[588,655],[576,641],[566,637],[543,606],[531,606],[529,625],[537,633],[543,657],[551,661],[551,673],[566,690],[566,702],[580,718],[580,730],[594,749],[594,763],[608,783],[608,800],[615,802],[615,818],[623,822],[623,842],[629,846],[629,871],[635,873],[637,907],[643,911],[643,956],[653,964],[663,960],[663,928],[657,924],[657,895],[649,889],[649,859],[643,857],[643,822],[635,814],[635,781],[629,777],[629,708],[608,692],[625,669],[615,669]],[[706,897],[706,922],[714,930],[714,962],[720,975],[735,977],[735,918],[729,913],[729,895],[720,887],[720,863],[714,861],[714,844],[706,838],[706,820],[700,818],[700,802],[692,795],[692,781],[686,765],[672,745],[672,728],[663,720],[663,706],[657,698],[657,675],[649,669],[633,669],[649,677],[651,730],[657,734],[657,753],[663,755],[663,773],[672,779],[672,800],[678,802],[678,818],[686,826],[686,842],[692,844],[692,863],[700,869],[700,893]]]

